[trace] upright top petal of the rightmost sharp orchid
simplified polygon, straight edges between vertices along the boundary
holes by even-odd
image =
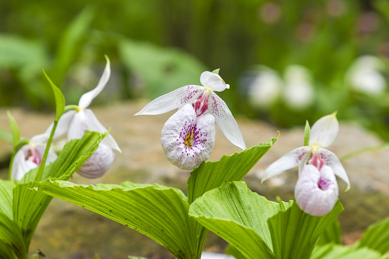
[[[338,131],[339,122],[336,119],[336,112],[321,117],[311,128],[309,145],[318,144],[321,147],[328,147],[334,142]]]

